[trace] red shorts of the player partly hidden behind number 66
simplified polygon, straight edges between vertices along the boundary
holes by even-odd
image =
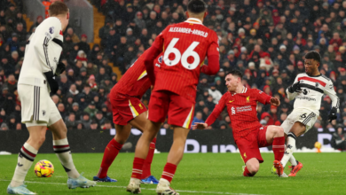
[[[127,125],[139,114],[146,111],[145,105],[139,98],[129,97],[121,93],[111,93],[109,99],[112,104],[113,121],[117,125]]]

